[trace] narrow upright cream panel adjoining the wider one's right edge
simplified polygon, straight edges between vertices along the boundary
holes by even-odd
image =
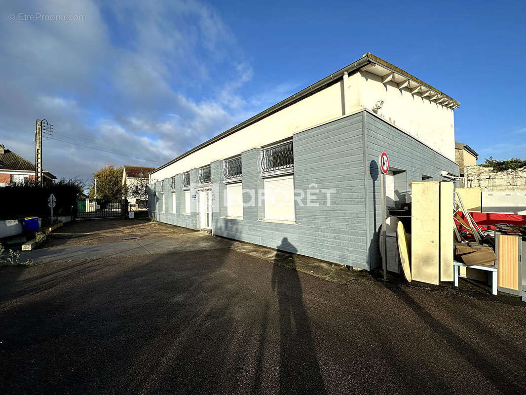
[[[440,183],[440,281],[453,281],[453,183]]]

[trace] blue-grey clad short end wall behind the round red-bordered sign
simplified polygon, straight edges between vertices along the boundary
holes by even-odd
[[[398,175],[395,179],[395,194],[404,200],[410,192],[409,184],[422,181],[422,175],[431,176],[430,181],[442,181],[441,171],[458,175],[459,167],[447,157],[437,154],[412,136],[391,126],[379,117],[363,112],[363,133],[365,134],[366,193],[368,198],[366,212],[368,216],[367,245],[370,268],[379,264],[378,231],[382,224],[381,186],[378,157],[382,151],[389,156],[389,165]],[[405,182],[403,180],[405,179]]]

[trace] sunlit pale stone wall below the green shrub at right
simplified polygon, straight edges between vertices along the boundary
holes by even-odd
[[[493,173],[491,167],[480,165],[466,167],[464,179],[467,186],[480,187],[482,191],[526,191],[526,170],[508,170]]]

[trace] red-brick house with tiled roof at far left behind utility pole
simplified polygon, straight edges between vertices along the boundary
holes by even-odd
[[[44,184],[51,185],[56,180],[53,174],[43,171]],[[0,144],[0,186],[10,183],[32,182],[35,180],[35,164],[6,149]]]

